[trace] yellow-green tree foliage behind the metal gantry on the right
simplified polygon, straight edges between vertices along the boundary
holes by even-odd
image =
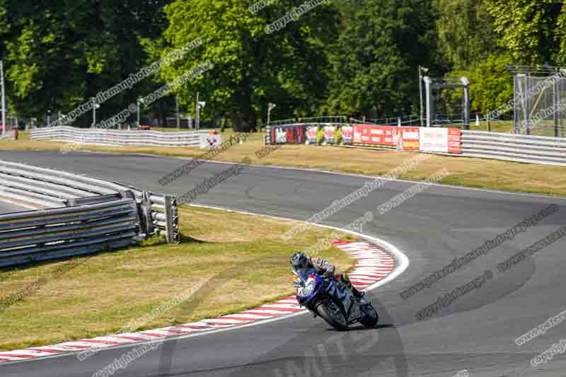
[[[446,77],[466,76],[470,80],[471,111],[483,114],[499,108],[513,96],[513,76],[506,64],[512,63],[514,57],[504,42],[499,41],[497,31],[502,30],[501,20],[498,13],[490,13],[493,3],[492,0],[437,0],[436,4],[441,13],[437,21],[439,53],[451,67]],[[511,12],[509,9],[507,13]],[[461,89],[442,93],[449,112],[462,111],[462,98]]]

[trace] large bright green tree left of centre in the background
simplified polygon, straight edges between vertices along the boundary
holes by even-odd
[[[194,103],[199,91],[207,102],[205,112],[226,115],[238,131],[255,129],[270,102],[277,103],[274,114],[279,117],[311,112],[328,81],[325,49],[336,35],[335,8],[321,4],[282,30],[265,30],[303,2],[277,1],[252,13],[248,1],[175,1],[166,7],[166,42],[172,48],[197,38],[206,42],[189,59],[165,69],[163,77],[172,80],[212,62],[214,69],[192,80],[180,98]]]

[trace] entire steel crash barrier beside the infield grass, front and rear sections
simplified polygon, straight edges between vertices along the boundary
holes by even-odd
[[[0,267],[131,245],[180,242],[177,200],[98,178],[0,163],[0,200],[33,211],[0,215]]]

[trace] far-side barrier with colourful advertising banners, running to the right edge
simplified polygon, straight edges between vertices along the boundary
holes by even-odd
[[[566,138],[442,127],[377,124],[279,124],[266,127],[265,144],[307,144],[420,151],[566,166]]]

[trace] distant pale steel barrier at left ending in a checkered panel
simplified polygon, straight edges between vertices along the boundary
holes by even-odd
[[[44,127],[30,131],[30,140],[62,140],[87,144],[112,146],[217,146],[220,135],[208,132],[157,132],[157,131],[114,131],[110,129],[79,129],[76,127]]]

